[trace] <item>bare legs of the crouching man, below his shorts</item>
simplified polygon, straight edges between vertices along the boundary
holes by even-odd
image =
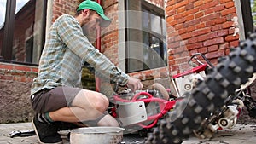
[[[62,107],[55,112],[49,112],[53,121],[83,122],[102,117],[108,108],[108,98],[105,95],[90,90],[81,90],[74,98],[71,107]],[[119,126],[118,122],[110,115],[104,116],[99,126]]]

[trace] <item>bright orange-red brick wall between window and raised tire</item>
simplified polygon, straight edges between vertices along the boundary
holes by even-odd
[[[202,53],[213,64],[238,45],[233,0],[168,0],[166,23],[170,72],[188,70],[189,55]]]

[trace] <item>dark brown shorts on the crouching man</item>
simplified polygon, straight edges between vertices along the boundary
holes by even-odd
[[[32,95],[32,109],[38,113],[53,112],[61,107],[70,107],[73,99],[82,89],[61,86],[42,89]]]

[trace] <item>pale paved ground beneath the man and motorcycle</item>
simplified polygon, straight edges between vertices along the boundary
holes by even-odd
[[[37,136],[14,137],[9,134],[14,130],[32,130],[31,123],[0,124],[0,144],[38,144]],[[142,144],[143,137],[124,135],[122,144]],[[69,142],[64,139],[64,144]],[[256,143],[256,124],[237,124],[231,130],[220,130],[211,140],[201,140],[195,137],[183,141],[183,144],[253,144]]]

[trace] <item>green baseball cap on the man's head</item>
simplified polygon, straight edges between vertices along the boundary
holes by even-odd
[[[102,27],[107,27],[110,25],[111,20],[104,14],[104,10],[102,9],[102,6],[99,3],[96,3],[95,1],[91,0],[86,0],[79,4],[79,8],[77,9],[77,11],[82,9],[91,9],[96,11],[96,13],[102,17]]]

